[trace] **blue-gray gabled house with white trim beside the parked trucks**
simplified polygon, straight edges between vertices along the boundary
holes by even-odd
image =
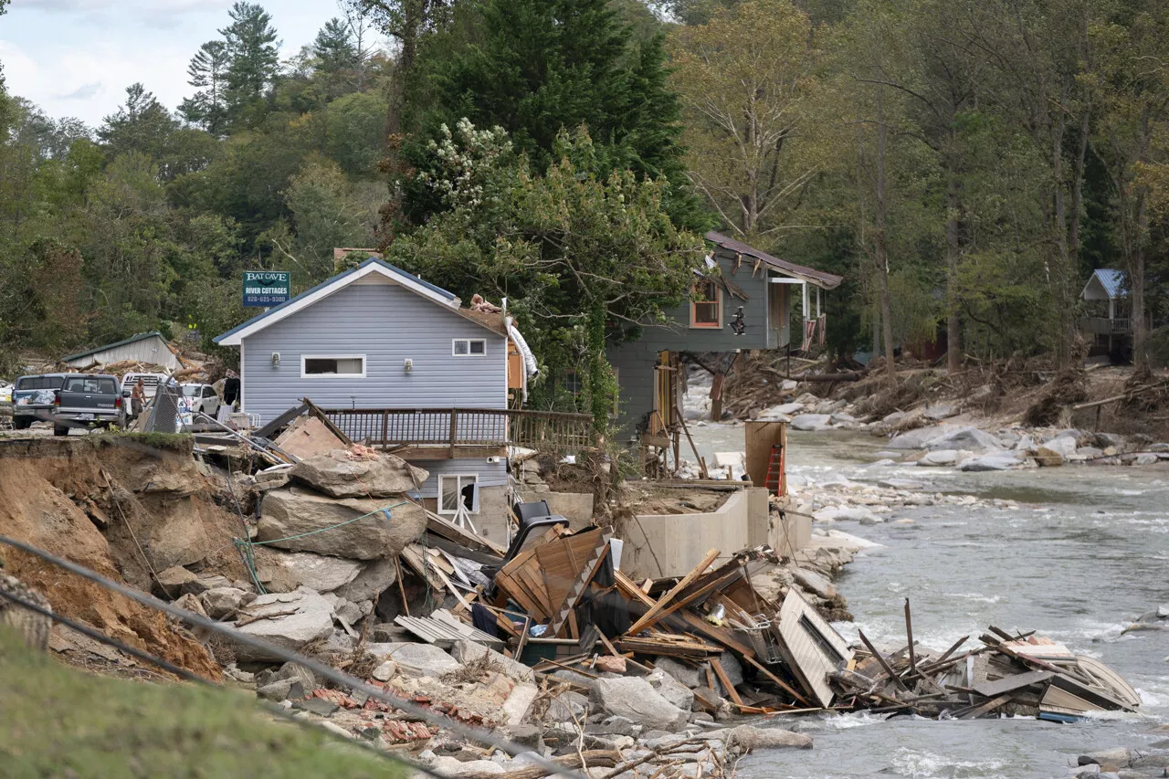
[[[424,504],[455,513],[463,502],[499,543],[507,446],[581,429],[565,415],[517,408],[527,346],[504,313],[463,308],[454,294],[379,258],[215,342],[240,347],[242,411],[263,423],[309,398],[352,440],[428,470],[419,490]]]

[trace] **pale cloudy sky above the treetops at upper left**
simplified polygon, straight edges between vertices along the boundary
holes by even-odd
[[[338,16],[336,0],[260,0],[288,58]],[[0,64],[11,95],[91,127],[140,81],[174,110],[194,89],[187,64],[230,23],[231,0],[12,0],[0,16]]]

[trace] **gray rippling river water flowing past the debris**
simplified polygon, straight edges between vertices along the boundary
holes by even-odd
[[[741,450],[742,428],[696,428],[704,455]],[[988,625],[1037,629],[1079,654],[1111,664],[1142,695],[1141,715],[1075,724],[1035,719],[933,722],[866,715],[804,718],[810,751],[747,758],[747,779],[914,777],[1031,779],[1066,777],[1075,756],[1164,738],[1149,730],[1169,722],[1169,632],[1130,633],[1136,614],[1169,602],[1169,471],[1070,467],[962,474],[948,469],[867,468],[880,440],[866,434],[793,433],[789,469],[816,478],[856,481],[897,476],[931,492],[1012,498],[1017,510],[933,506],[899,510],[913,525],[842,530],[883,546],[848,566],[838,585],[856,623],[855,637],[904,642],[902,604],[913,604],[914,634],[934,649]]]

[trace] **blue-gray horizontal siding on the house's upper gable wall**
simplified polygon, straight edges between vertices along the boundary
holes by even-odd
[[[486,353],[456,357],[456,338],[484,339]],[[305,354],[362,354],[366,375],[302,378]],[[506,337],[368,276],[243,338],[242,406],[261,422],[300,398],[325,408],[506,408]]]

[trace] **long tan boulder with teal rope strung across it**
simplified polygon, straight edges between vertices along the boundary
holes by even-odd
[[[261,503],[257,540],[358,560],[394,557],[422,535],[427,517],[415,503],[388,508],[393,503],[397,501],[337,499],[297,488],[274,490]]]

